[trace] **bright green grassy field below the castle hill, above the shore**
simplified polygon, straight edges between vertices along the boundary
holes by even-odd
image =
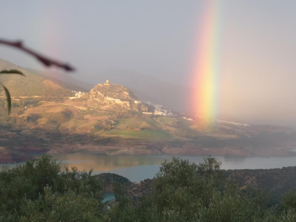
[[[103,133],[104,136],[122,136],[122,137],[133,137],[138,139],[168,139],[171,135],[162,130],[121,130],[114,129]]]

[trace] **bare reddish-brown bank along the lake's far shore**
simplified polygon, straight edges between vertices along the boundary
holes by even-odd
[[[0,162],[17,163],[36,153],[66,154],[96,152],[104,155],[219,155],[219,156],[295,156],[290,143],[271,144],[253,138],[207,141],[179,139],[124,139],[86,133],[46,130],[0,130]],[[239,144],[239,145],[238,145]]]

